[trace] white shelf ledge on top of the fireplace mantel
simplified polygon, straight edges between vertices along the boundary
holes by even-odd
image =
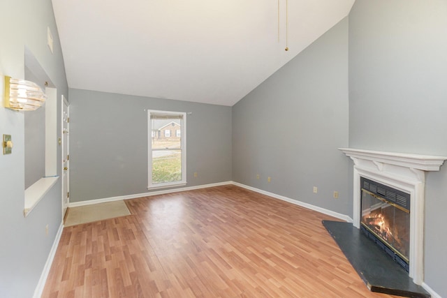
[[[351,158],[388,163],[389,165],[400,165],[401,167],[409,167],[423,171],[439,171],[439,167],[447,160],[447,156],[405,154],[353,148],[339,148],[339,150]]]

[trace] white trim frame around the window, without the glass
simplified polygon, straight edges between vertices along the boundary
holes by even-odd
[[[166,114],[166,115],[179,115],[181,114],[182,119],[182,180],[152,184],[152,137],[149,137],[149,133],[147,134],[147,189],[159,189],[159,188],[168,188],[175,186],[184,186],[186,185],[186,113],[185,112],[172,112],[172,111],[159,111],[159,110],[147,110],[147,131],[152,131],[151,124],[151,114]]]

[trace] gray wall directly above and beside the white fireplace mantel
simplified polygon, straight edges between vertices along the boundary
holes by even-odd
[[[357,0],[349,15],[350,147],[447,156],[447,1]],[[430,172],[425,283],[447,297],[447,165]]]

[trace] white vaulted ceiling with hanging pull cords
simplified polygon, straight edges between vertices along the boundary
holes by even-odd
[[[52,3],[68,87],[231,106],[354,1],[288,0],[288,52],[286,0]]]

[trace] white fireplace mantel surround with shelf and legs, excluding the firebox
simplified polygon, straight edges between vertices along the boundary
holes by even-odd
[[[353,225],[360,228],[360,177],[365,177],[410,194],[409,276],[423,283],[425,172],[439,171],[447,156],[404,154],[353,148],[339,148],[354,162]]]

